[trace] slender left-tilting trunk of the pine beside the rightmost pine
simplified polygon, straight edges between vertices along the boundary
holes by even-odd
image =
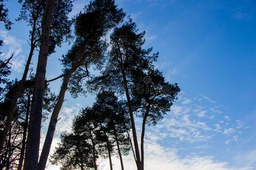
[[[125,86],[125,94],[126,94],[126,99],[127,99],[129,114],[130,114],[130,120],[131,120],[131,130],[133,131],[133,142],[134,142],[135,156],[136,156],[136,160],[137,160],[136,161],[137,169],[142,170],[141,156],[139,156],[139,145],[138,145],[135,121],[134,121],[134,117],[133,117],[133,108],[131,106],[131,99],[130,99],[130,94],[129,94],[129,91],[128,91],[128,86],[127,86],[127,80],[126,80],[126,77],[125,77],[125,73],[122,73],[122,74],[123,74],[123,84]]]

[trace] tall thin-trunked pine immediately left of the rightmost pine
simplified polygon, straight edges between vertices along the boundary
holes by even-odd
[[[92,83],[104,85],[110,88],[123,86],[121,94],[125,93],[129,115],[131,121],[131,129],[133,132],[134,150],[137,163],[137,169],[141,170],[141,156],[139,154],[139,146],[137,139],[137,131],[134,121],[133,105],[131,103],[131,89],[133,87],[132,75],[135,70],[142,72],[152,67],[158,54],[150,56],[152,48],[143,49],[145,32],[138,33],[136,24],[130,19],[119,28],[115,28],[110,36],[110,44],[112,49],[109,53],[108,64],[102,75],[95,78]]]

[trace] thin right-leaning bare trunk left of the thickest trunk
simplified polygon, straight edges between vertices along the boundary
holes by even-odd
[[[31,33],[30,54],[28,55],[28,59],[27,59],[27,63],[26,63],[25,69],[24,69],[22,79],[20,80],[20,82],[18,84],[18,88],[15,90],[14,98],[11,101],[11,105],[10,105],[10,109],[9,109],[9,112],[8,112],[8,117],[7,117],[7,120],[6,120],[5,128],[3,129],[2,133],[1,133],[0,152],[2,150],[3,145],[5,144],[5,138],[6,138],[6,135],[9,131],[9,129],[10,129],[11,122],[13,121],[13,116],[14,116],[17,101],[19,99],[19,96],[20,96],[20,94],[23,90],[24,84],[26,82],[27,73],[28,73],[28,70],[29,70],[29,67],[30,67],[31,59],[32,59],[34,49],[35,49],[35,44],[36,44],[36,41],[33,41],[34,40],[34,34],[35,34],[35,23],[33,25],[32,33]]]

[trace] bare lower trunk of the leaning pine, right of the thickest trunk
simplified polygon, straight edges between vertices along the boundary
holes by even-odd
[[[40,156],[40,159],[39,159],[39,165],[38,165],[39,170],[43,170],[43,169],[46,168],[46,163],[47,163],[49,151],[51,149],[52,139],[53,139],[56,124],[57,124],[57,118],[59,116],[60,109],[63,105],[65,92],[67,91],[68,82],[69,82],[69,79],[71,78],[73,70],[74,70],[74,68],[72,70],[69,70],[64,75],[64,79],[63,79],[63,83],[62,83],[62,86],[61,86],[61,89],[60,89],[59,97],[58,97],[57,103],[56,103],[56,105],[53,109],[51,120],[49,122],[48,130],[47,130],[46,139],[44,140],[43,150],[41,152],[41,156]]]

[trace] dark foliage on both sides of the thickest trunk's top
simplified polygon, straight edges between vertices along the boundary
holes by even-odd
[[[72,37],[71,25],[73,21],[68,18],[68,14],[72,11],[73,2],[73,0],[55,0],[55,8],[51,20],[49,54],[54,52],[56,45],[60,46],[63,41]],[[33,38],[40,42],[42,33],[41,23],[46,1],[24,0],[20,1],[20,3],[22,3],[22,9],[16,20],[25,20],[32,29],[35,27]]]

